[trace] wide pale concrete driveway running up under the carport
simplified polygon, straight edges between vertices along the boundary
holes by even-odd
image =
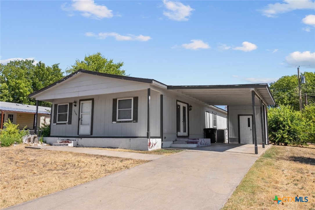
[[[269,145],[258,147],[261,155]],[[214,143],[10,208],[220,209],[259,157],[253,153],[250,144]]]

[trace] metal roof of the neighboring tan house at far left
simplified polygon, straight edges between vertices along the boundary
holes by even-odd
[[[25,112],[25,113],[36,113],[36,106],[20,104],[20,103],[10,103],[10,102],[0,102],[1,111],[9,112]],[[50,114],[50,107],[38,107],[38,114]]]

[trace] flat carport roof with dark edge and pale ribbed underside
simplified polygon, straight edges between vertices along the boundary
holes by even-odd
[[[177,94],[207,105],[251,105],[252,90],[264,104],[275,105],[268,84],[167,86]]]

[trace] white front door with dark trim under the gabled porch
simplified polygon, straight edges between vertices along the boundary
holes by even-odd
[[[92,101],[80,102],[79,135],[91,134]]]

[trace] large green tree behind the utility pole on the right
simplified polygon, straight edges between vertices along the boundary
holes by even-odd
[[[302,103],[305,103],[304,93],[307,93],[308,103],[314,103],[315,98],[311,96],[315,96],[315,73],[304,72],[302,75],[306,78],[306,84],[301,84]],[[295,110],[300,110],[297,75],[281,77],[270,84],[270,90],[277,105],[289,105]]]

